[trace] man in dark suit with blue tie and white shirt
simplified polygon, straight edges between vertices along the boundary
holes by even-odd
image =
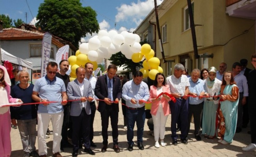
[[[117,72],[117,66],[109,65],[107,75],[103,75],[98,78],[95,86],[95,95],[100,100],[98,111],[101,113],[101,125],[102,125],[102,137],[103,147],[101,152],[106,152],[108,148],[108,121],[109,117],[112,126],[113,137],[113,150],[120,152],[118,147],[118,112],[119,112],[119,100],[122,97],[121,81],[115,76]]]

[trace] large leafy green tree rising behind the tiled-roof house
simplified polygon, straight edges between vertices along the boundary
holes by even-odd
[[[81,37],[98,33],[96,16],[91,7],[82,7],[80,0],[44,0],[38,8],[36,26],[78,48]]]

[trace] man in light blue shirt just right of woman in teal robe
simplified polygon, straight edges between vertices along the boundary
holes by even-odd
[[[238,102],[238,117],[236,124],[236,133],[241,132],[243,126],[243,105],[246,104],[246,98],[249,95],[248,84],[245,75],[240,74],[241,64],[235,62],[232,65],[232,76],[236,82],[236,86],[239,89],[239,102]]]

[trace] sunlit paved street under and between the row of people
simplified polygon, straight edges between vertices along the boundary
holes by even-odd
[[[247,144],[250,144],[251,142],[251,136],[247,134],[247,129],[243,129],[241,133],[236,133],[234,137],[234,141],[232,144],[219,144],[217,141],[218,139],[205,139],[202,136],[202,141],[196,141],[194,139],[194,135],[192,132],[194,131],[194,124],[191,124],[190,134],[189,134],[189,140],[188,144],[182,144],[178,140],[178,145],[174,146],[171,144],[171,131],[170,131],[170,115],[168,117],[167,123],[166,123],[166,132],[165,132],[165,142],[167,142],[167,146],[160,148],[154,147],[154,137],[151,135],[148,135],[148,126],[145,122],[144,127],[144,135],[143,135],[143,144],[145,146],[145,150],[139,150],[137,146],[137,137],[135,132],[135,147],[132,152],[129,152],[127,150],[128,144],[126,142],[126,130],[123,129],[123,114],[121,110],[121,104],[120,106],[120,112],[119,112],[119,147],[121,148],[120,153],[115,153],[112,149],[113,142],[112,142],[112,136],[111,136],[111,126],[109,125],[109,144],[107,152],[102,153],[101,147],[102,147],[102,136],[101,136],[101,115],[98,111],[96,111],[95,115],[95,121],[94,121],[94,139],[93,141],[95,144],[97,144],[97,147],[93,151],[95,151],[96,156],[102,156],[102,157],[255,157],[256,152],[243,152],[241,148],[243,146],[246,146]],[[50,122],[50,128],[51,128],[51,122]],[[136,126],[135,126],[136,130]],[[180,132],[179,132],[180,133]],[[178,133],[178,134],[179,134]],[[53,135],[50,135],[49,139],[46,139],[47,146],[48,146],[48,157],[52,157],[52,144],[53,144]],[[11,157],[23,157],[24,152],[22,150],[22,143],[20,140],[20,135],[18,129],[14,130],[11,129],[11,144],[12,144],[12,153]],[[37,142],[36,142],[37,147]],[[61,153],[63,157],[71,157],[72,154],[72,148],[65,148],[64,152]],[[88,157],[89,155],[83,152],[83,149],[79,150],[79,157]]]

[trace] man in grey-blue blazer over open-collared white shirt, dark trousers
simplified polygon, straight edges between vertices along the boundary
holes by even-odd
[[[91,150],[90,144],[90,120],[91,120],[91,106],[90,102],[93,100],[91,84],[84,80],[85,69],[79,67],[75,71],[77,79],[68,82],[67,94],[69,100],[76,100],[71,102],[70,116],[72,120],[72,143],[73,153],[72,157],[77,157],[79,149],[79,132],[82,130],[82,138],[84,141],[84,152],[90,155],[95,155]]]

